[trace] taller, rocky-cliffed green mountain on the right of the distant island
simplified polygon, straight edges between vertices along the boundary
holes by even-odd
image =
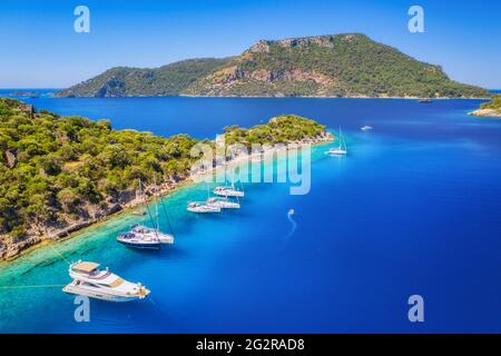
[[[451,81],[363,34],[259,41],[189,93],[236,96],[479,97],[487,91]]]

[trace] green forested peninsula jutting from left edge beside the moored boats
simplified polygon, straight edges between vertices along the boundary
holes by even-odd
[[[315,144],[325,126],[293,115],[249,129],[225,129],[228,144]],[[136,200],[138,179],[164,194],[189,179],[197,140],[114,130],[107,120],[61,117],[0,98],[0,259],[58,239]],[[148,188],[146,189],[148,194]]]

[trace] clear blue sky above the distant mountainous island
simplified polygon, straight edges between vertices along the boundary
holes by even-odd
[[[411,6],[424,32],[411,33]],[[90,32],[73,29],[77,6]],[[115,66],[235,56],[259,39],[362,32],[451,79],[501,88],[499,0],[1,0],[0,88],[65,88]]]

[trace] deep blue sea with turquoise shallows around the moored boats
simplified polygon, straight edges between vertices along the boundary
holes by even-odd
[[[59,288],[0,289],[2,332],[501,332],[501,120],[469,117],[481,100],[28,99],[115,128],[213,138],[283,113],[342,126],[350,156],[314,150],[312,190],[247,184],[239,211],[193,216],[204,185],[165,199],[176,245],[126,249],[119,216],[57,246],[151,289],[149,300],[91,303],[73,320]],[[360,127],[374,129],[362,132]],[[287,218],[294,208],[296,229]],[[161,227],[167,228],[166,220]],[[36,267],[36,268],[33,268]],[[0,269],[1,286],[63,284],[66,263],[41,248]],[[407,320],[424,298],[425,322]]]

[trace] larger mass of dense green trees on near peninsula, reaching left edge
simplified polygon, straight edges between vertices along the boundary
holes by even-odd
[[[30,117],[9,99],[0,99],[0,234],[13,236],[118,201],[138,178],[186,175],[196,144],[185,135],[118,131],[108,121],[43,110]]]

